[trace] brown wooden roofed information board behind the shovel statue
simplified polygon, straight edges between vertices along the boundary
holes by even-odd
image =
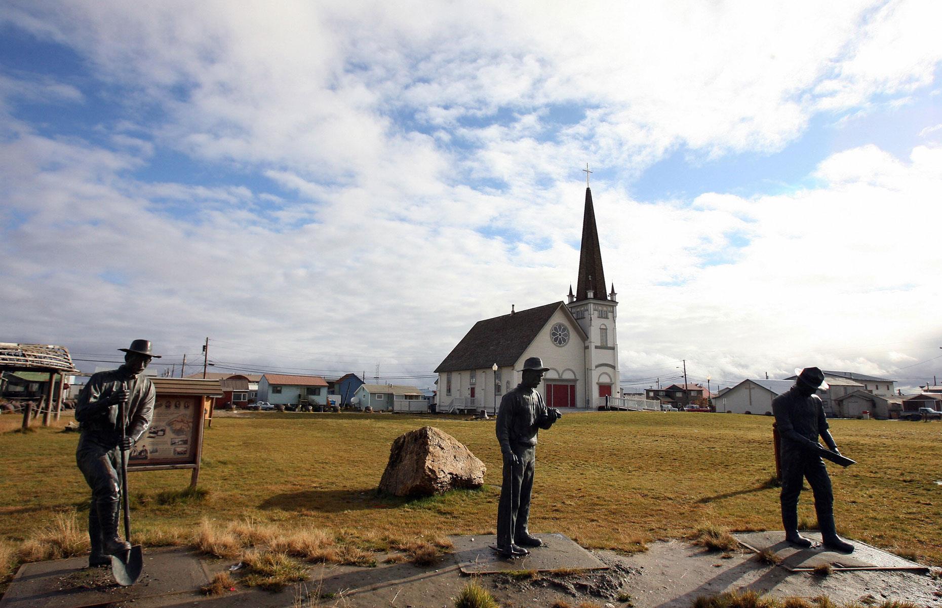
[[[154,419],[134,448],[127,469],[191,468],[190,485],[200,475],[203,453],[203,412],[222,395],[219,380],[152,378],[156,389]]]

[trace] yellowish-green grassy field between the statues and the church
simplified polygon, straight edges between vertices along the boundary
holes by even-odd
[[[67,419],[63,419],[64,423]],[[78,435],[11,433],[0,417],[0,539],[16,547],[55,514],[85,520],[89,490],[74,464]],[[487,465],[479,491],[415,501],[375,494],[402,433],[434,425]],[[942,565],[939,422],[834,420],[842,452],[829,465],[842,534]],[[771,418],[735,414],[568,415],[540,434],[531,531],[568,534],[591,548],[638,550],[705,524],[778,530]],[[493,533],[500,452],[493,421],[389,414],[256,413],[217,418],[205,432],[202,499],[179,499],[189,471],[129,477],[134,529],[195,534],[204,518],[319,528],[349,538]],[[810,492],[800,514],[813,526]],[[9,549],[8,549],[9,550]]]

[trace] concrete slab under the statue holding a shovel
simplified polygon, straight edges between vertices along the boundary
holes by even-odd
[[[0,608],[86,608],[192,592],[209,583],[199,558],[181,548],[149,549],[137,583],[119,586],[110,567],[88,567],[88,556],[24,564]]]

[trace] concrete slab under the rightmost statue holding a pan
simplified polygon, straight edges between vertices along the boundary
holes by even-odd
[[[792,572],[806,572],[818,566],[835,570],[912,570],[927,572],[928,568],[901,558],[885,550],[870,547],[859,540],[848,539],[853,553],[839,553],[821,544],[819,532],[803,531],[802,535],[814,542],[810,549],[799,549],[785,541],[784,532],[745,532],[733,534],[741,545],[756,553],[771,550],[781,560],[779,566]]]

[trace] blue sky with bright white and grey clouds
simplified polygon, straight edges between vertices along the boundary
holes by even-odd
[[[429,386],[563,300],[626,388],[942,377],[934,0],[0,5],[0,341]],[[417,376],[413,378],[413,376]],[[424,377],[423,377],[424,376]]]

